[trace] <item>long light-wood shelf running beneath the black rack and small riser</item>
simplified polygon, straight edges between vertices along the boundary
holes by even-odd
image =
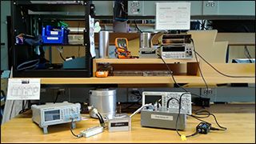
[[[174,76],[178,83],[202,83],[200,76]],[[207,83],[255,83],[255,78],[226,78],[224,76],[207,76]],[[41,84],[172,84],[171,77],[162,76],[115,76],[107,78],[41,78]]]

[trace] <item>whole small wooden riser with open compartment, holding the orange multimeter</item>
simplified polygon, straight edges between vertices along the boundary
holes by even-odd
[[[164,60],[166,64],[178,64],[173,65],[170,68],[174,74],[186,74],[186,75],[198,75],[198,63],[192,59],[169,59]],[[100,64],[110,63],[113,70],[130,70],[130,71],[152,71],[152,70],[167,70],[164,62],[160,58],[129,58],[129,59],[118,59],[118,58],[95,58],[93,62],[93,74],[95,77],[95,72],[100,70]],[[186,64],[186,69],[182,68],[182,65]],[[125,66],[124,66],[125,65]],[[185,71],[184,71],[185,70]]]

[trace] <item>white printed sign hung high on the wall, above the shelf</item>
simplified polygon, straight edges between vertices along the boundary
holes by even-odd
[[[190,30],[190,2],[157,2],[156,30]]]

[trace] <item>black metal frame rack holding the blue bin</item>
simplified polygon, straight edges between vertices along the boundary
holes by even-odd
[[[57,2],[57,3],[54,3]],[[60,1],[59,1],[60,2]],[[91,1],[77,1],[77,3],[58,3],[58,1],[12,1],[12,54],[14,78],[89,78],[92,76],[92,58],[90,55],[90,16],[94,17],[94,6]],[[67,1],[68,2],[68,1]],[[69,1],[71,2],[71,1]],[[72,1],[76,2],[76,1]],[[60,11],[61,10],[61,11]],[[76,11],[80,10],[80,11]],[[34,14],[31,14],[34,13]],[[37,46],[16,44],[18,34],[35,34],[35,26],[41,26],[44,18],[58,18],[63,20],[85,21],[83,30],[83,45],[85,46],[85,69],[45,69],[18,70],[22,62],[38,57],[34,51]],[[41,29],[38,27],[38,30]],[[37,32],[38,33],[38,32]],[[50,44],[47,44],[49,46]],[[44,46],[44,45],[42,45]],[[53,45],[54,46],[54,45]],[[59,45],[62,46],[62,45]],[[66,46],[66,45],[64,45]]]

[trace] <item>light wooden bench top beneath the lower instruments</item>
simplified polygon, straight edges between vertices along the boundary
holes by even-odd
[[[31,113],[28,112],[12,118],[1,126],[1,143],[255,143],[255,103],[213,104],[206,109],[215,114],[221,126],[227,127],[226,131],[210,131],[209,134],[198,134],[187,138],[186,141],[182,141],[175,130],[142,127],[140,124],[140,114],[136,114],[132,118],[131,131],[110,133],[104,130],[103,133],[90,138],[75,138],[70,133],[70,123],[49,126],[49,134],[42,134],[42,129],[32,122]],[[89,118],[87,114],[82,114],[82,117]],[[218,127],[214,122],[214,118],[206,118],[204,120]],[[198,123],[198,120],[188,117],[186,130],[180,131],[180,133],[186,135],[194,133],[195,126]],[[89,118],[82,120],[77,122],[74,133],[78,134],[81,130],[97,125],[97,119]]]

